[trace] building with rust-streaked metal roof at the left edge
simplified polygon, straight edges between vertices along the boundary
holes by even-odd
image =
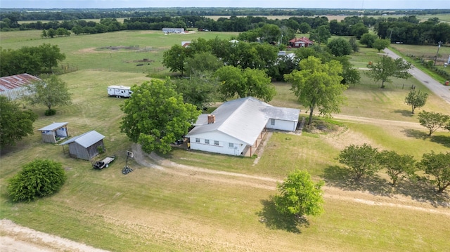
[[[0,95],[5,95],[10,100],[22,98],[30,95],[27,91],[27,85],[34,81],[42,81],[31,74],[16,74],[0,78]]]

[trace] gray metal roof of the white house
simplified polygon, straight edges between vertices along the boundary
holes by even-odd
[[[297,114],[295,114],[297,113]],[[253,97],[240,98],[225,102],[213,114],[214,124],[207,124],[207,114],[201,114],[186,136],[220,131],[252,145],[259,137],[269,119],[298,121],[300,110],[274,107]]]

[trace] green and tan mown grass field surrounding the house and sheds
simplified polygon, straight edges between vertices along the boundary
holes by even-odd
[[[126,150],[131,142],[120,133],[120,105],[109,98],[109,85],[140,84],[148,80],[148,69],[136,69],[127,60],[162,57],[174,43],[205,36],[226,38],[233,34],[194,33],[164,36],[156,32],[115,32],[57,39],[39,39],[34,32],[2,32],[3,48],[58,44],[70,64],[79,70],[61,75],[74,93],[73,104],[55,107],[57,114],[44,117],[44,107],[32,107],[39,114],[34,128],[53,121],[68,121],[71,136],[96,130],[105,135],[105,155],[116,154],[108,168],[96,171],[89,161],[71,159],[58,145],[44,144],[38,133],[3,150],[0,157],[0,218],[42,232],[81,241],[110,251],[445,251],[448,249],[449,199],[437,197],[429,187],[402,181],[392,192],[383,173],[362,185],[349,184],[345,169],[335,157],[345,145],[368,142],[376,147],[411,154],[419,159],[425,152],[446,152],[450,133],[439,131],[425,137],[425,128],[411,126],[417,115],[404,104],[407,89],[389,86],[351,86],[341,114],[371,118],[378,123],[335,119],[331,132],[302,135],[274,133],[259,162],[176,149],[164,156],[186,166],[211,172],[183,171],[140,166],[131,160],[132,173],[122,175]],[[187,36],[187,37],[186,37]],[[114,42],[114,44],[111,43]],[[117,45],[151,46],[152,51],[109,52],[99,48]],[[153,48],[155,50],[153,50]],[[155,52],[156,51],[156,52]],[[155,53],[155,54],[152,54]],[[376,53],[364,50],[355,62],[366,62]],[[108,58],[109,57],[109,58]],[[67,63],[65,62],[65,63]],[[153,64],[153,63],[152,63]],[[356,63],[357,64],[357,63]],[[356,65],[355,64],[355,65]],[[112,71],[109,71],[109,67]],[[361,74],[361,76],[364,76]],[[397,82],[398,81],[398,82]],[[426,88],[416,80],[395,80]],[[277,83],[272,105],[298,107],[288,84]],[[423,110],[448,113],[449,105],[430,95]],[[302,115],[306,115],[303,114]],[[383,121],[389,120],[389,121]],[[67,151],[67,150],[66,150]],[[101,156],[101,157],[103,157]],[[100,159],[101,157],[98,157]],[[63,163],[68,182],[53,197],[13,204],[6,195],[6,182],[20,166],[35,158]],[[325,211],[309,218],[309,227],[299,230],[283,225],[274,214],[271,196],[274,180],[289,171],[309,171],[314,180],[326,180]],[[221,175],[213,171],[249,176]],[[273,178],[262,180],[259,177]],[[423,190],[420,190],[420,189]],[[385,197],[388,195],[389,197]],[[264,219],[264,221],[262,221]]]

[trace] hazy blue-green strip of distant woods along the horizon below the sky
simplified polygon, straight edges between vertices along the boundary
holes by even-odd
[[[450,13],[450,9],[430,10],[355,10],[323,8],[92,8],[92,9],[34,9],[0,8],[0,20],[12,22],[32,20],[80,20],[101,18],[175,17],[186,15],[436,15]]]

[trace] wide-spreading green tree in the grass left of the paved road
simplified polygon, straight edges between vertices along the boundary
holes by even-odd
[[[367,76],[373,81],[381,81],[381,88],[385,88],[385,82],[392,83],[391,78],[408,79],[411,77],[408,70],[411,69],[411,63],[402,58],[393,60],[390,57],[383,56],[378,62],[368,65]]]

